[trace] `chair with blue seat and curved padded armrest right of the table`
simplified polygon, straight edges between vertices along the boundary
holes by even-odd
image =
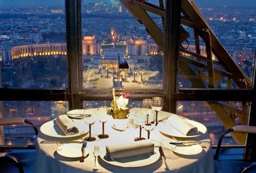
[[[219,152],[221,148],[222,139],[230,132],[251,133],[256,134],[256,126],[250,125],[236,125],[228,130],[225,130],[220,136],[214,155],[215,173],[232,172],[232,173],[250,173],[256,172],[256,166],[253,162],[240,160],[219,160]]]

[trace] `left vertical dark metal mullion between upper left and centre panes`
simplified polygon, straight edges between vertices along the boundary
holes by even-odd
[[[82,108],[79,93],[82,82],[81,0],[66,0],[66,40],[68,83],[71,93],[69,109]]]

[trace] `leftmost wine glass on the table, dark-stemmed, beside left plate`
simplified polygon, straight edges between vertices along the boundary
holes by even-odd
[[[85,138],[85,141],[95,141],[96,138],[91,136],[91,125],[95,123],[96,114],[95,109],[93,108],[86,108],[84,109],[84,117],[85,123],[89,125],[89,137]]]

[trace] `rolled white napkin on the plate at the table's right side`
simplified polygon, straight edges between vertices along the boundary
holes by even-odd
[[[196,135],[198,133],[197,127],[177,115],[169,116],[167,122],[185,136]]]

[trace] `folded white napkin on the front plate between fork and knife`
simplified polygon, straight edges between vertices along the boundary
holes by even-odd
[[[154,152],[154,144],[149,140],[133,141],[106,146],[106,151],[110,159],[118,159]]]

